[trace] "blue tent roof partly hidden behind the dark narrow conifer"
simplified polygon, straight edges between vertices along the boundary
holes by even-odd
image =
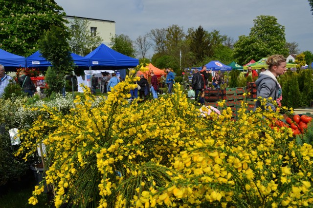
[[[76,66],[86,66],[89,67],[89,59],[81,57],[77,54],[71,53],[71,56],[74,60]],[[34,54],[26,57],[26,66],[27,67],[48,67],[52,66],[50,61],[42,57],[42,54],[39,51],[36,51]]]

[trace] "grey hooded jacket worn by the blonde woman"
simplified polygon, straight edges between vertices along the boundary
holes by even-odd
[[[262,74],[259,75],[259,78],[255,81],[257,86],[257,97],[261,96],[262,98],[271,97],[272,100],[276,100],[278,98],[278,94],[280,91],[280,85],[276,79],[276,77],[269,71],[266,70]],[[261,102],[258,100],[255,103],[254,111],[257,107],[261,106]],[[267,103],[265,107],[270,106],[270,108],[275,111],[275,106],[271,103]],[[264,106],[261,106],[262,109],[265,109]]]

